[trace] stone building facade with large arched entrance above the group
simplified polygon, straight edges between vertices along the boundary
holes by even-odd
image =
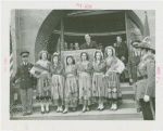
[[[123,11],[77,11],[77,10],[12,10],[11,11],[11,36],[12,36],[12,44],[13,44],[13,70],[15,74],[16,67],[21,62],[20,53],[22,51],[29,51],[29,62],[35,63],[38,60],[38,53],[41,50],[48,50],[50,52],[50,48],[57,48],[58,39],[61,40],[61,50],[64,50],[65,39],[68,41],[71,39],[84,39],[84,31],[76,32],[71,30],[71,25],[66,23],[72,17],[78,19],[78,17],[83,16],[92,16],[96,19],[99,15],[108,15],[109,17],[114,16],[114,13],[117,13],[117,17],[115,17],[118,22],[124,19],[122,26],[118,25],[115,29],[111,31],[100,30],[101,27],[98,27],[100,24],[96,23],[93,25],[93,30],[90,28],[91,36],[95,39],[110,40],[114,39],[115,36],[122,35],[124,37],[124,41],[126,41],[128,48],[129,42],[134,39],[142,40],[143,34],[143,24],[145,24],[145,11],[143,10],[123,10]],[[121,15],[122,13],[122,15]],[[120,16],[118,16],[120,15]],[[147,11],[151,44],[155,47],[155,11]],[[115,21],[116,21],[115,19]],[[74,21],[73,21],[74,22]],[[89,21],[90,22],[90,21]],[[91,23],[91,22],[90,22]],[[106,23],[108,24],[108,23]],[[90,24],[91,26],[92,24]],[[108,27],[110,24],[108,24]],[[123,29],[124,25],[124,29]],[[75,25],[74,25],[75,26]],[[117,29],[122,28],[122,30]],[[103,28],[104,29],[104,28]],[[105,36],[105,37],[104,37]],[[83,38],[82,38],[83,37]],[[55,39],[54,39],[55,38]],[[113,41],[113,40],[112,40]],[[71,42],[71,41],[70,41]],[[75,42],[75,41],[74,41]],[[103,41],[104,43],[104,41]],[[49,47],[50,45],[50,47]],[[50,52],[52,53],[53,50]]]

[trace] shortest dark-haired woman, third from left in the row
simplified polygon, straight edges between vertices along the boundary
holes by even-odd
[[[65,58],[65,76],[66,76],[64,89],[65,109],[63,114],[66,114],[68,112],[68,107],[72,107],[73,112],[75,112],[77,107],[78,87],[76,81],[75,60],[73,56],[67,56]]]

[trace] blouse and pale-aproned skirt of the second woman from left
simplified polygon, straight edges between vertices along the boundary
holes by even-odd
[[[51,74],[51,97],[54,105],[64,104],[64,66],[63,64],[52,64]]]

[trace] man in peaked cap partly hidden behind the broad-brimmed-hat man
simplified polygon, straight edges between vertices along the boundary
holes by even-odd
[[[134,92],[135,92],[135,104],[136,104],[136,108],[137,108],[137,113],[141,112],[141,107],[139,104],[139,101],[137,101],[137,94],[136,94],[136,82],[138,80],[138,70],[137,67],[140,63],[140,55],[138,54],[138,51],[136,48],[134,48],[135,44],[140,43],[139,40],[135,40],[131,41],[131,45],[133,45],[133,54],[129,56],[128,58],[128,74],[129,74],[129,82],[134,83],[133,88],[134,88]]]

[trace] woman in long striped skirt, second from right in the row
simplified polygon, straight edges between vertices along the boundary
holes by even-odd
[[[93,56],[92,96],[93,101],[98,101],[99,104],[97,110],[103,110],[105,62],[101,51],[96,51]]]

